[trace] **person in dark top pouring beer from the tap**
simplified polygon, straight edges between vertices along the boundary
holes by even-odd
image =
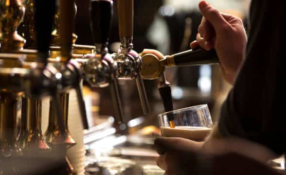
[[[203,18],[191,48],[215,49],[222,75],[233,87],[205,141],[155,140],[157,164],[165,175],[279,174],[267,162],[286,151],[280,94],[286,5],[252,0],[248,38],[240,18],[204,0],[198,6]],[[163,58],[154,50],[143,53]]]

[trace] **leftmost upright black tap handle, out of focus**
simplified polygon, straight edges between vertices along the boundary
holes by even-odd
[[[37,62],[47,65],[51,33],[54,24],[55,0],[35,0]]]

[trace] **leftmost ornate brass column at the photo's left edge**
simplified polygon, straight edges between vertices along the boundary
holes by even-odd
[[[15,13],[11,13],[15,12]],[[22,68],[25,55],[21,50],[25,40],[16,29],[23,18],[24,8],[18,0],[0,0],[0,174],[14,175],[19,167],[14,158],[22,156],[17,143],[17,105],[24,89],[21,79],[28,74]],[[5,166],[5,162],[11,162]]]

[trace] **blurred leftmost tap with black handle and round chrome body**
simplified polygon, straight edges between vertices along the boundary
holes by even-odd
[[[54,101],[59,103],[57,91],[59,90],[61,74],[53,66],[48,65],[54,13],[55,0],[35,0],[36,48],[38,50],[36,67],[26,77],[23,86],[32,98],[51,95]],[[56,112],[58,116],[62,116],[62,109],[59,105],[57,105]],[[58,117],[58,123],[63,126],[62,117]]]

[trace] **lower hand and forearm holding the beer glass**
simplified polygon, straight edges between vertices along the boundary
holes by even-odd
[[[266,162],[277,155],[247,140],[196,142],[160,137],[154,145],[160,154],[157,164],[165,170],[164,175],[276,175]]]

